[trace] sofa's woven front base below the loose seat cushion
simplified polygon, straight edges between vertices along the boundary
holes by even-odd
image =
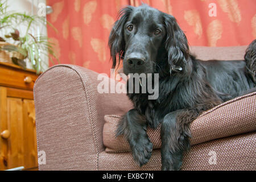
[[[225,137],[193,145],[184,152],[181,170],[184,171],[247,171],[256,170],[256,132]],[[209,163],[213,152],[217,156],[216,165]],[[130,152],[109,153],[102,151],[98,156],[101,171],[155,171],[161,170],[161,152],[156,149],[147,164],[139,167]]]

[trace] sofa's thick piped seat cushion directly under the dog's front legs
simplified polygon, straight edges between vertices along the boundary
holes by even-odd
[[[191,144],[256,131],[255,110],[256,92],[234,98],[205,111],[191,123]],[[117,123],[122,114],[125,113],[105,115],[103,142],[106,152],[130,151],[123,135],[115,137]],[[147,134],[153,143],[153,148],[160,148],[160,126],[155,130],[148,128]]]

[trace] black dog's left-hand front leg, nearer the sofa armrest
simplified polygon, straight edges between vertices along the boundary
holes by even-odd
[[[119,121],[116,134],[116,136],[125,135],[130,144],[133,158],[139,166],[146,164],[152,154],[153,145],[146,130],[146,118],[136,109],[131,109]]]

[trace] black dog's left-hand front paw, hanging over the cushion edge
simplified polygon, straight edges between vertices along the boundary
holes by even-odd
[[[146,164],[151,157],[153,144],[148,137],[141,138],[131,147],[131,152],[135,162],[141,167]]]

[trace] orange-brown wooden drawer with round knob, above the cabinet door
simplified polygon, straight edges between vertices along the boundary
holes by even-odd
[[[0,64],[0,85],[12,88],[33,90],[38,76],[35,72],[20,69],[15,65]]]

